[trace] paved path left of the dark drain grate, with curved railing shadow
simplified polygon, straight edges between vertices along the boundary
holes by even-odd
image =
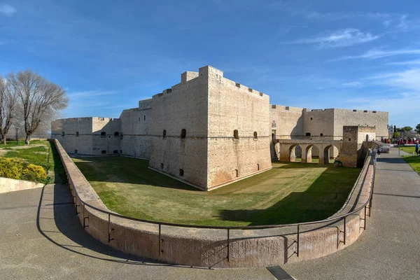
[[[80,227],[66,186],[0,195],[0,279],[274,279],[265,268],[202,269],[143,262]]]

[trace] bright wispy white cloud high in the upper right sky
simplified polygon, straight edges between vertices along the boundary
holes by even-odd
[[[318,36],[316,38],[304,38],[297,41],[287,42],[290,44],[316,44],[319,48],[335,48],[356,45],[374,41],[379,36],[373,36],[369,32],[363,33],[359,29],[347,28],[333,32],[328,36]]]

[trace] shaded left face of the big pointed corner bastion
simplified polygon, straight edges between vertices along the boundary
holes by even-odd
[[[192,76],[188,75],[190,80],[181,80],[178,85],[153,96],[153,137],[149,166],[206,189],[207,76]],[[186,130],[185,139],[181,138],[183,129]],[[163,137],[164,130],[166,137]]]

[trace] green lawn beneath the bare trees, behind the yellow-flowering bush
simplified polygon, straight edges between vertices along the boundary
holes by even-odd
[[[25,141],[7,141],[6,145],[0,144],[0,156],[4,158],[16,158],[28,164],[40,165],[48,173],[50,179],[40,183],[53,183],[56,181],[55,173],[59,174],[62,181],[66,181],[64,167],[55,148],[55,144],[45,140],[31,141],[29,146]]]

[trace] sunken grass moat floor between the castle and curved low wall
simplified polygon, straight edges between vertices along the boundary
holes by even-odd
[[[148,169],[147,160],[73,158],[109,209],[125,216],[195,225],[316,221],[344,204],[360,169],[273,162],[273,169],[204,192]]]

